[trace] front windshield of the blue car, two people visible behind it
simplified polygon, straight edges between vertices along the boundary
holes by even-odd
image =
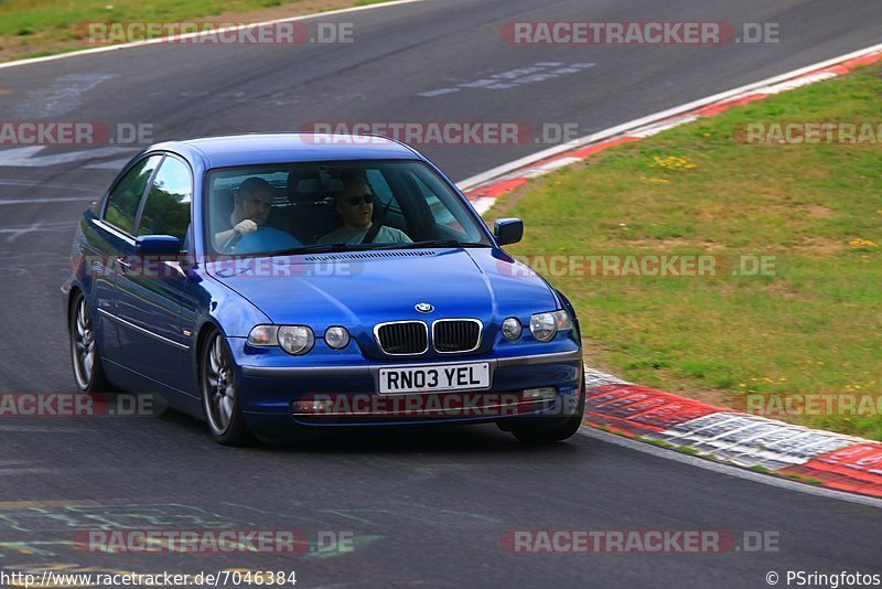
[[[482,221],[420,161],[261,164],[208,172],[220,254],[491,247]]]

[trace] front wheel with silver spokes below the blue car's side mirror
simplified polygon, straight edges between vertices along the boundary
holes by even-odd
[[[205,339],[201,357],[202,407],[212,436],[224,446],[251,442],[239,406],[233,353],[219,330],[212,331]]]

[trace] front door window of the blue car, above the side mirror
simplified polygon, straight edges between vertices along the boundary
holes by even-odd
[[[138,235],[171,235],[182,242],[190,226],[193,178],[190,168],[169,156],[157,172],[147,196]]]

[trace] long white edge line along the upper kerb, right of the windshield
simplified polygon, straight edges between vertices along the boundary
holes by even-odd
[[[851,53],[847,53],[846,55],[841,55],[839,57],[833,57],[832,60],[827,60],[824,62],[818,62],[813,65],[807,65],[805,67],[800,67],[799,69],[794,69],[792,72],[787,72],[786,74],[779,74],[777,76],[772,76],[770,78],[754,82],[753,84],[747,84],[745,86],[739,86],[738,88],[733,88],[731,90],[721,92],[719,94],[714,94],[713,96],[708,96],[707,98],[701,98],[699,100],[693,100],[691,103],[687,103],[685,105],[680,105],[674,108],[669,108],[667,110],[662,110],[659,113],[655,113],[653,115],[647,115],[645,117],[641,117],[638,119],[631,120],[628,122],[623,122],[622,125],[616,125],[615,127],[610,127],[603,131],[598,131],[595,133],[582,137],[580,139],[574,139],[572,141],[568,141],[567,143],[561,143],[560,146],[555,146],[552,148],[539,151],[531,156],[527,156],[515,161],[504,163],[502,165],[497,165],[492,170],[487,170],[486,172],[482,172],[480,174],[473,175],[471,178],[466,178],[465,180],[461,180],[456,182],[456,185],[460,188],[461,191],[467,192],[481,184],[484,184],[495,178],[501,175],[514,172],[520,168],[525,168],[530,165],[531,163],[536,163],[537,161],[541,161],[548,158],[552,158],[560,153],[566,153],[568,151],[572,151],[573,149],[578,149],[591,143],[596,143],[603,141],[605,139],[612,139],[620,135],[626,135],[628,131],[634,129],[638,129],[641,127],[646,127],[648,125],[654,125],[664,119],[676,117],[678,115],[682,115],[685,113],[689,113],[690,110],[695,110],[697,108],[701,108],[702,106],[712,105],[714,103],[719,103],[722,100],[727,100],[729,98],[734,98],[735,96],[742,94],[751,94],[755,93],[757,88],[762,88],[763,86],[774,86],[775,84],[781,84],[783,82],[787,82],[795,77],[809,74],[815,72],[816,69],[822,69],[825,67],[830,67],[832,65],[837,65],[842,62],[847,62],[849,60],[853,60],[856,57],[862,57],[864,55],[870,55],[872,53],[879,53],[882,51],[882,43],[878,45],[873,45],[870,47],[865,47],[862,50],[858,50]]]

